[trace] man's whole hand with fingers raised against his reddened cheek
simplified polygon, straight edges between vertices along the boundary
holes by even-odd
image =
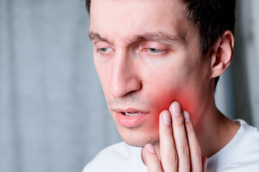
[[[203,171],[207,158],[201,157],[199,141],[188,111],[177,101],[159,115],[160,160],[152,144],[145,145],[148,172]]]

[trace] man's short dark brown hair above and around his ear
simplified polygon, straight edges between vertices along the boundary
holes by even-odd
[[[204,59],[210,47],[222,37],[224,31],[234,34],[235,0],[179,0],[186,5],[186,17],[199,33],[200,52]],[[90,15],[91,0],[85,0]],[[219,80],[215,77],[214,92]]]

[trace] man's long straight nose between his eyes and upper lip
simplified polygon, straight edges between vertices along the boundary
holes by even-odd
[[[113,97],[120,98],[128,92],[140,89],[141,80],[136,60],[135,58],[130,58],[126,52],[116,52],[116,55],[113,56],[109,83],[109,92]]]

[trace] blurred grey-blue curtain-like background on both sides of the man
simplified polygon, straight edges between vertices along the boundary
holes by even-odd
[[[233,61],[215,100],[259,127],[259,1],[237,1]],[[71,172],[121,142],[80,0],[0,0],[0,171]]]

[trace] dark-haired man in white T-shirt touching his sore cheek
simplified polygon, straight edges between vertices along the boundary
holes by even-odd
[[[234,0],[86,6],[94,64],[124,142],[83,172],[258,170],[258,129],[228,119],[214,102],[232,60]]]

